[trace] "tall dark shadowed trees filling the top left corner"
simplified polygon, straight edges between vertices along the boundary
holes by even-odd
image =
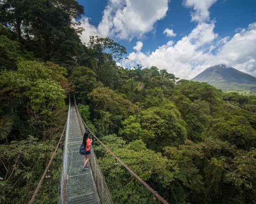
[[[81,17],[83,9],[75,0],[3,0],[0,23],[37,57],[74,64],[82,51],[77,35],[82,30],[72,27],[79,26],[73,19]]]

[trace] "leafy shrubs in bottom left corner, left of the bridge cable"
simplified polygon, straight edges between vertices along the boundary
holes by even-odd
[[[0,199],[4,203],[28,203],[54,147],[55,141],[39,142],[32,136],[0,145],[0,174],[4,177]]]

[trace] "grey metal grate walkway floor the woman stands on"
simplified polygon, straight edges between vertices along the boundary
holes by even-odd
[[[89,170],[82,170],[84,156],[79,154],[82,132],[74,105],[71,105],[69,126],[67,203],[100,204],[90,164]]]

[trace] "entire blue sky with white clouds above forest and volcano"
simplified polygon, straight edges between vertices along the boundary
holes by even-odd
[[[125,68],[157,67],[190,80],[225,64],[256,77],[256,0],[77,0],[90,35],[126,47]]]

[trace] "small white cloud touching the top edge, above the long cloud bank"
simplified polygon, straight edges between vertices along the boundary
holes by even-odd
[[[210,20],[209,8],[217,0],[184,0],[186,7],[193,7],[194,12],[191,13],[192,21],[204,22]]]

